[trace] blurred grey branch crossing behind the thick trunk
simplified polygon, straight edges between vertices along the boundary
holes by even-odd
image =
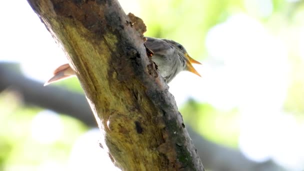
[[[80,93],[68,91],[58,86],[43,87],[43,83],[25,78],[18,71],[18,64],[0,63],[0,91],[13,87],[23,96],[26,103],[49,108],[58,113],[65,113],[83,121],[88,126],[96,126],[91,116],[91,110],[85,96]],[[219,170],[247,170],[247,171],[276,171],[282,170],[278,165],[268,160],[254,162],[248,160],[241,152],[212,143],[191,127],[187,130],[193,140],[200,158],[203,158],[206,168]]]

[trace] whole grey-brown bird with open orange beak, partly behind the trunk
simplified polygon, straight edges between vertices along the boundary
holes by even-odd
[[[152,51],[151,59],[157,65],[159,73],[166,83],[169,83],[183,70],[200,76],[192,63],[201,63],[191,58],[180,43],[164,38],[146,37],[144,45]],[[76,75],[75,71],[68,63],[62,64],[54,70],[53,76],[44,83],[44,86],[74,75]]]

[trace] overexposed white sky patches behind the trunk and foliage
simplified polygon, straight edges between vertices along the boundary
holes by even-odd
[[[256,5],[249,9],[261,16],[272,13],[271,0],[244,1],[248,6]],[[140,16],[136,4],[136,0],[121,0],[126,11]],[[49,78],[56,66],[67,61],[26,0],[0,1],[0,21],[0,60],[20,62],[27,76],[41,82]],[[303,45],[304,28],[299,30],[296,34]],[[298,135],[304,132],[304,124],[282,111],[290,78],[287,49],[281,37],[269,33],[254,18],[239,13],[209,30],[206,47],[209,57],[202,61],[202,66],[195,66],[202,77],[182,72],[170,83],[177,104],[191,97],[220,109],[240,108],[239,147],[247,157],[258,161],[271,157],[290,170],[303,169],[304,136]],[[58,130],[44,137],[37,131],[48,127],[40,125],[41,120],[58,125]],[[56,133],[60,132],[60,124],[56,114],[41,112],[32,121],[32,136],[48,143],[59,136]],[[93,147],[97,145],[97,135],[98,130],[94,129],[75,142],[69,164],[75,166],[73,170],[83,170],[85,167],[77,165],[81,163],[79,160],[99,149]],[[92,148],[83,150],[83,145]],[[44,168],[41,170],[47,170]]]

